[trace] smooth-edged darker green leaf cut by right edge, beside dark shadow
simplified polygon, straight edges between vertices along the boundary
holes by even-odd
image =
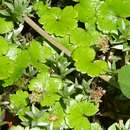
[[[122,93],[130,98],[130,65],[123,66],[118,73],[118,83]]]

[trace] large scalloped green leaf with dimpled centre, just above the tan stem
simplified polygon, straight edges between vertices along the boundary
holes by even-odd
[[[64,36],[70,30],[77,27],[77,13],[72,6],[66,6],[63,10],[58,7],[48,9],[39,22],[45,30],[57,36]]]

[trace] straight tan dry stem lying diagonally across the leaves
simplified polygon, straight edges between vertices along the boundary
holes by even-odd
[[[31,26],[36,32],[38,32],[41,36],[43,36],[46,40],[48,40],[53,46],[58,48],[61,52],[65,53],[67,56],[71,56],[71,51],[65,48],[61,43],[59,43],[56,38],[50,36],[46,31],[44,31],[41,27],[39,27],[32,19],[28,16],[24,17],[25,22]]]

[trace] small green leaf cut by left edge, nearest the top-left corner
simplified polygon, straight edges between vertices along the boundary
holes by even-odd
[[[13,30],[13,22],[6,21],[4,18],[0,17],[0,34],[8,33]]]

